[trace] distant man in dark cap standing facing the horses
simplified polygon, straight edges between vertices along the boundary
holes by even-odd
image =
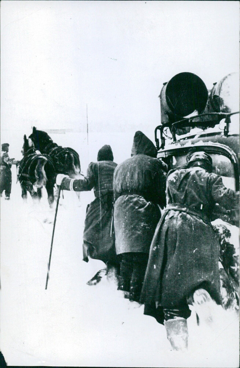
[[[2,197],[5,190],[5,199],[10,199],[11,187],[12,187],[12,164],[17,164],[15,159],[10,159],[8,156],[9,144],[3,143],[1,145],[0,156],[0,195]]]

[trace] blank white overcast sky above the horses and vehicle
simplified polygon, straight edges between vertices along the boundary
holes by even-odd
[[[1,0],[2,130],[154,131],[183,71],[239,71],[238,1]]]

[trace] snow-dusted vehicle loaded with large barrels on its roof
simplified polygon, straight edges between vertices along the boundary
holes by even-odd
[[[155,141],[168,170],[182,166],[190,149],[204,150],[223,184],[239,191],[239,75],[228,74],[208,90],[197,75],[179,73],[163,84],[159,97]],[[221,244],[223,307],[239,309],[239,211],[216,204],[211,220]]]

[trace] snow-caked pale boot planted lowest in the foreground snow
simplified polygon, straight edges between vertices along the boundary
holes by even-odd
[[[167,331],[167,338],[173,350],[188,350],[188,325],[185,318],[176,317],[164,321]]]

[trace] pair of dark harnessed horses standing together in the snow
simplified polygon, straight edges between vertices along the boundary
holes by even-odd
[[[29,192],[33,199],[40,200],[41,189],[45,187],[48,203],[52,207],[57,174],[65,174],[72,178],[80,177],[79,154],[72,148],[59,146],[52,141],[47,132],[37,130],[35,127],[32,134],[28,138],[24,135],[23,139],[23,158],[18,164],[22,198],[25,200]]]

